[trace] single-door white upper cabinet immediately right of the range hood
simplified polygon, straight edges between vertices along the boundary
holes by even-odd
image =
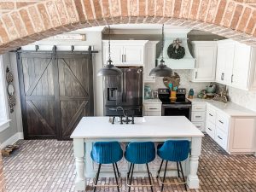
[[[217,43],[215,41],[194,41],[195,69],[191,71],[191,81],[215,81]]]

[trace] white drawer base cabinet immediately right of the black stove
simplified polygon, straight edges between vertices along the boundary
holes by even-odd
[[[205,131],[206,119],[206,103],[192,102],[191,122],[200,131]]]

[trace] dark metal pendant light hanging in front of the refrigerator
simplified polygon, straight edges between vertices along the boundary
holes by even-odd
[[[119,76],[122,74],[122,71],[112,64],[110,55],[110,26],[108,26],[108,61],[107,65],[98,71],[97,76]]]

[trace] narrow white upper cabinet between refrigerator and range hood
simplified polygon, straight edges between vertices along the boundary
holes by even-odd
[[[144,65],[144,82],[147,83],[154,83],[155,82],[155,76],[149,76],[149,73],[151,69],[155,67],[155,60],[156,60],[156,44],[158,41],[149,41],[146,44],[146,60]]]

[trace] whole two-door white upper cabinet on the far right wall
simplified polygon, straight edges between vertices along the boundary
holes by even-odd
[[[256,90],[255,50],[232,40],[218,41],[216,82],[241,90]]]

